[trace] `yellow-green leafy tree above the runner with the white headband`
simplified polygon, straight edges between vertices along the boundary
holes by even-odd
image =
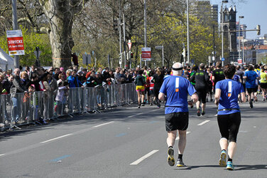
[[[141,36],[133,37],[133,41],[142,40]],[[212,29],[202,25],[196,16],[190,16],[190,59],[194,59],[195,63],[206,63],[213,51],[212,40]],[[155,63],[156,66],[162,66],[162,62],[161,53],[156,53],[155,46],[164,46],[164,63],[165,66],[170,67],[173,62],[181,61],[183,43],[187,49],[185,14],[183,16],[158,14],[158,21],[148,26],[148,44],[154,60],[151,63]],[[156,58],[160,59],[156,60]]]

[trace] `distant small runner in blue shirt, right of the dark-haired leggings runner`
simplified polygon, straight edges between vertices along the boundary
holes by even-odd
[[[246,78],[246,90],[249,93],[249,105],[253,108],[254,93],[257,92],[256,79],[258,78],[257,73],[253,70],[253,66],[249,66],[249,70],[245,72],[243,78]]]

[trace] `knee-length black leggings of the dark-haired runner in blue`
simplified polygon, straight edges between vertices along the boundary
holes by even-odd
[[[236,142],[241,123],[240,112],[235,112],[230,115],[217,115],[217,121],[222,138],[226,138],[229,142]]]

